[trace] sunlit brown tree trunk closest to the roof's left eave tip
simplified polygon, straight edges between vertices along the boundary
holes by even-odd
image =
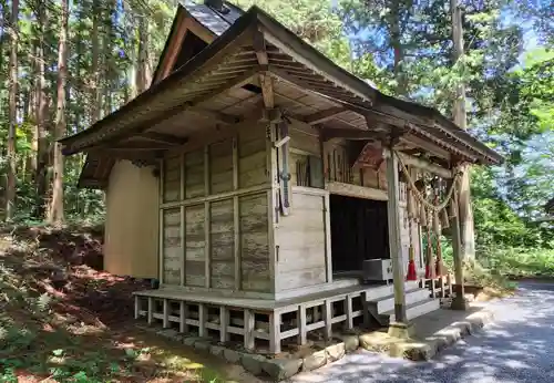
[[[55,111],[54,138],[60,139],[65,135],[65,77],[68,60],[68,0],[61,0],[62,17],[60,44],[58,53],[58,107]],[[48,221],[60,225],[63,222],[63,154],[61,144],[54,143],[54,177],[52,185],[52,201]]]

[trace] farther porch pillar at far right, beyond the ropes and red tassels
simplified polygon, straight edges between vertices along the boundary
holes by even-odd
[[[454,310],[466,310],[468,302],[465,301],[465,291],[463,286],[463,255],[460,232],[460,211],[458,211],[458,193],[456,185],[454,185],[454,192],[452,194],[454,214],[453,217],[450,218],[450,227],[452,229],[452,257],[454,258],[455,297],[452,299],[451,308]]]

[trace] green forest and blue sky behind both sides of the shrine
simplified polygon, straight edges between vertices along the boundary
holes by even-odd
[[[547,0],[235,0],[382,92],[438,107],[506,158],[471,169],[476,257],[554,275],[554,9]],[[175,0],[0,0],[0,219],[101,222],[55,139],[151,81]],[[458,13],[456,13],[458,12]],[[460,33],[453,33],[458,25]],[[463,126],[462,126],[463,127]],[[448,250],[447,250],[448,257]]]

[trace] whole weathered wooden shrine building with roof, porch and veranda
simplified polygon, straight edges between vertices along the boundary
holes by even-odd
[[[137,318],[274,353],[438,309],[422,232],[440,213],[460,266],[458,170],[502,161],[260,9],[216,1],[181,6],[152,86],[62,145],[88,154],[81,186],[106,190],[105,268],[160,281]]]

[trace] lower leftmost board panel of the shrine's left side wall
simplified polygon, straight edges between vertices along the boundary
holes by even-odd
[[[167,209],[163,213],[163,281],[167,284],[181,283],[181,209]]]

